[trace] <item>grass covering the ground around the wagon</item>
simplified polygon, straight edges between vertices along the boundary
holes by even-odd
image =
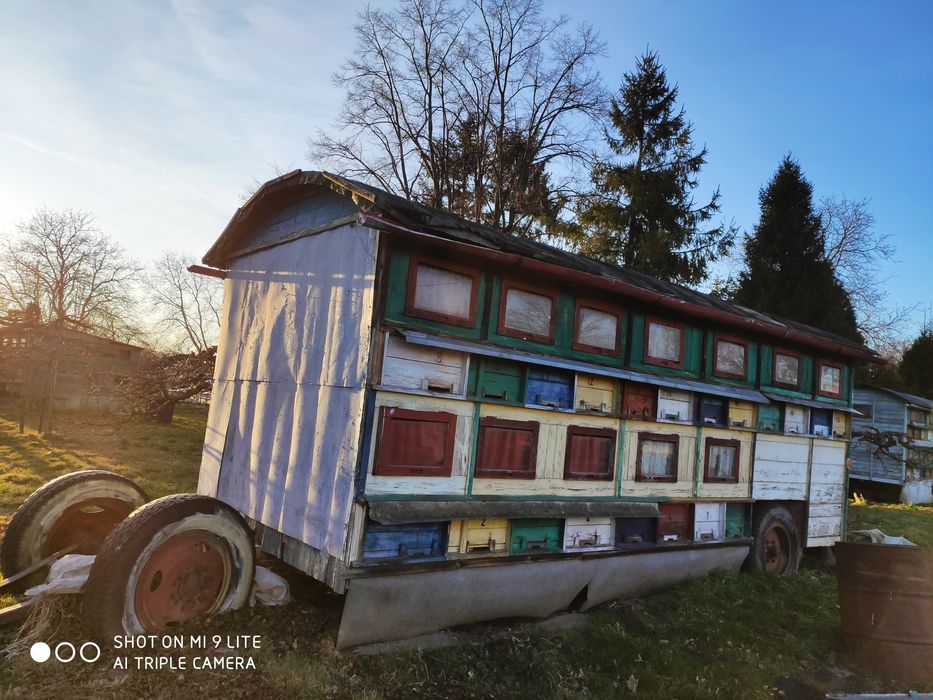
[[[170,426],[62,414],[57,435],[19,434],[0,415],[0,530],[46,480],[100,467],[138,481],[153,497],[196,486],[205,412],[180,408]],[[931,545],[933,508],[856,505],[850,527],[879,527]],[[903,690],[845,667],[835,578],[808,568],[787,578],[715,573],[638,601],[603,606],[575,631],[536,631],[518,622],[473,625],[461,646],[385,656],[337,653],[342,602],[291,577],[285,608],[236,611],[179,630],[256,634],[257,665],[241,671],[120,671],[105,648],[95,665],[0,661],[0,698],[774,698],[800,683],[822,690]],[[2,601],[0,601],[2,604]],[[77,599],[53,611],[49,641],[84,641]],[[53,625],[53,628],[55,625]],[[0,628],[0,648],[15,630]],[[189,663],[192,653],[187,654]],[[820,684],[823,684],[822,686]],[[830,685],[834,686],[830,688]],[[825,687],[824,687],[825,686]]]

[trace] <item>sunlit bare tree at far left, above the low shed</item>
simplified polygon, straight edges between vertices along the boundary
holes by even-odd
[[[138,333],[140,267],[85,211],[39,209],[0,243],[0,303],[39,322],[119,340]]]

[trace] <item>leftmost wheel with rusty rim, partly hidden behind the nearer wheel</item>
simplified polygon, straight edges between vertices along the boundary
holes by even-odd
[[[97,554],[111,531],[146,503],[146,492],[119,474],[100,469],[52,479],[25,500],[7,527],[0,566],[5,576],[73,547]],[[32,577],[14,584],[22,590]]]

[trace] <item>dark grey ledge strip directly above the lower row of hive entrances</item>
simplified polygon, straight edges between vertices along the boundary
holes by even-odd
[[[660,518],[656,503],[619,501],[439,501],[369,503],[369,517],[384,525],[477,518]]]

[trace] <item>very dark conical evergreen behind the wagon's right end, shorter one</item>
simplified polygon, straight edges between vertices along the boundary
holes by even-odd
[[[813,185],[785,156],[758,193],[761,216],[745,238],[746,270],[734,300],[800,323],[861,340],[849,295],[826,258]]]

